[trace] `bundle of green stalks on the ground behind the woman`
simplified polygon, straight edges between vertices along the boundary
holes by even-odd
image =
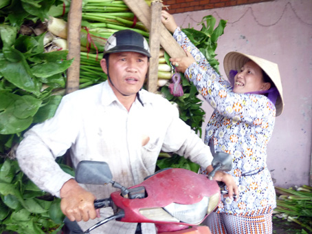
[[[303,228],[301,233],[312,233],[312,187],[303,185],[275,189],[277,207],[274,209],[274,216],[296,222]]]

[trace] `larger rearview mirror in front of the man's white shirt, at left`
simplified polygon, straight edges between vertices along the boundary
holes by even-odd
[[[107,184],[112,178],[106,162],[84,160],[77,165],[76,181],[80,184]]]

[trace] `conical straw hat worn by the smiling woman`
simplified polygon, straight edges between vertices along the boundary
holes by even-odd
[[[271,81],[276,86],[276,89],[278,89],[280,96],[278,96],[276,100],[275,107],[276,116],[279,116],[280,114],[282,114],[282,110],[284,109],[284,100],[282,98],[282,82],[280,81],[280,72],[276,63],[272,63],[263,58],[258,58],[252,55],[247,55],[239,52],[230,52],[225,55],[223,61],[225,74],[228,78],[230,78],[231,70],[240,71],[241,67],[243,67],[243,65],[249,60],[252,60],[254,61],[254,63],[258,64],[258,66],[261,67],[261,69],[265,71],[265,73],[267,73],[269,78],[271,78]]]

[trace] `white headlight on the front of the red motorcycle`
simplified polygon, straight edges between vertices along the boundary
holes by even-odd
[[[171,203],[165,206],[164,210],[181,222],[199,224],[207,214],[208,203],[209,198],[203,197],[200,202],[194,204]]]

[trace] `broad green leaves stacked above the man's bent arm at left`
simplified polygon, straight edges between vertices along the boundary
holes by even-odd
[[[45,33],[21,34],[22,26],[48,15],[54,1],[0,3],[0,153],[10,151],[33,123],[54,116],[65,88],[67,51],[45,53]],[[24,24],[23,24],[24,23]],[[35,23],[33,23],[34,25]]]

